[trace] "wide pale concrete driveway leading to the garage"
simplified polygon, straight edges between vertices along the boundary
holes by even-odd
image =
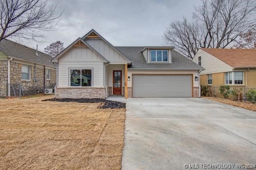
[[[200,98],[130,98],[126,109],[123,170],[256,164],[256,112]]]

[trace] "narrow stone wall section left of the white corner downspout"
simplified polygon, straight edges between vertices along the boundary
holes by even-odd
[[[7,77],[7,61],[0,61],[0,97],[5,97],[7,95]]]

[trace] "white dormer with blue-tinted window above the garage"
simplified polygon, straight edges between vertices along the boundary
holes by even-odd
[[[144,47],[140,52],[147,63],[172,63],[174,47]]]

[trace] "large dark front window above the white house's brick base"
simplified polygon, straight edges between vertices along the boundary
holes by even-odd
[[[70,69],[70,86],[92,86],[92,69]]]

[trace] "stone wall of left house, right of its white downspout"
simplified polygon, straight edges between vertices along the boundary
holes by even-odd
[[[46,69],[44,77],[44,68],[31,64],[31,77],[30,80],[21,80],[21,63],[16,61],[11,62],[11,94],[14,95],[13,89],[16,96],[19,95],[19,85],[22,85],[22,90],[25,96],[43,92],[43,79],[45,78],[45,88],[54,88],[56,85],[56,69],[51,69],[50,80],[46,79]],[[48,69],[48,68],[47,68]]]

